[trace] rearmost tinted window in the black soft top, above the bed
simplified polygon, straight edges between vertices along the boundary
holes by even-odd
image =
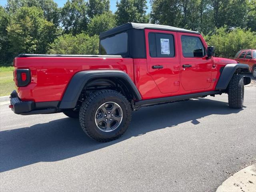
[[[101,55],[124,55],[128,52],[128,34],[123,32],[100,40]]]

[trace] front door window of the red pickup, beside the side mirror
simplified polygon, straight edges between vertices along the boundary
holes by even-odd
[[[198,37],[183,35],[181,44],[184,57],[203,57],[205,55],[204,46]]]

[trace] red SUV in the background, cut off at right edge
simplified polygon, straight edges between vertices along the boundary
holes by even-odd
[[[244,49],[236,53],[234,60],[239,63],[248,64],[252,76],[256,79],[256,49]]]

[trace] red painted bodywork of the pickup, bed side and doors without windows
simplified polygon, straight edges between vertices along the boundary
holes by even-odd
[[[148,33],[169,33],[174,36],[174,58],[151,58],[149,55]],[[30,69],[31,82],[28,86],[17,87],[21,100],[34,102],[60,101],[71,78],[83,70],[122,70],[134,81],[142,99],[161,98],[196,92],[215,90],[220,68],[234,60],[224,58],[185,58],[182,55],[181,32],[145,29],[145,59],[118,57],[21,57],[14,59],[17,69]],[[207,44],[197,36],[207,50]],[[192,65],[183,68],[183,64]],[[152,69],[162,65],[163,69]],[[14,78],[15,79],[15,78]]]

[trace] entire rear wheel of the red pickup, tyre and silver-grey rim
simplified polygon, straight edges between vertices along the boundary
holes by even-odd
[[[90,138],[108,142],[124,134],[131,112],[130,103],[122,94],[114,90],[100,90],[84,100],[79,121]]]

